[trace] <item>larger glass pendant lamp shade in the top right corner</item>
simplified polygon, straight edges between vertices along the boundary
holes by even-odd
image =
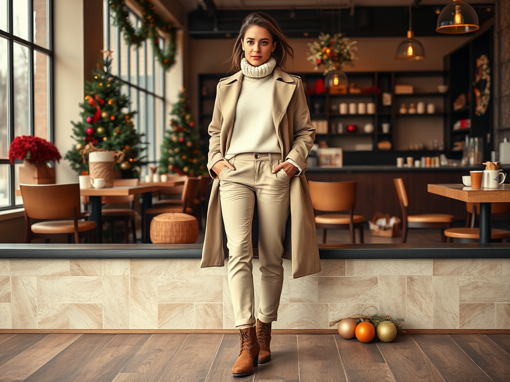
[[[439,13],[436,32],[459,34],[473,32],[478,28],[478,15],[473,7],[461,0],[454,0]]]

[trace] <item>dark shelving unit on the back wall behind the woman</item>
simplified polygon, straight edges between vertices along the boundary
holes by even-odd
[[[443,129],[445,124],[445,108],[444,100],[447,96],[446,93],[439,93],[437,91],[438,85],[445,83],[446,73],[444,71],[413,71],[413,72],[349,72],[347,76],[349,83],[354,83],[357,88],[371,88],[373,86],[379,88],[381,92],[390,93],[392,104],[386,106],[382,104],[381,96],[375,94],[314,94],[309,89],[315,89],[316,82],[319,78],[324,78],[322,73],[296,73],[303,81],[305,93],[307,94],[307,102],[310,110],[310,118],[312,121],[326,121],[327,133],[317,133],[316,142],[325,141],[329,147],[342,147],[344,149],[344,159],[349,155],[349,152],[354,151],[354,146],[357,144],[372,144],[373,151],[379,153],[388,151],[379,151],[377,143],[381,141],[389,141],[392,145],[389,154],[399,156],[399,152],[408,151],[409,143],[421,142],[426,146],[430,139],[441,139],[443,137]],[[208,134],[207,127],[212,118],[214,108],[214,98],[216,92],[216,85],[224,74],[199,74],[198,78],[198,121],[201,126],[202,138],[207,142]],[[413,85],[415,93],[413,94],[395,94],[395,85],[406,84]],[[427,103],[434,103],[436,113],[433,114],[399,114],[399,107],[401,103],[417,103],[419,101]],[[375,103],[374,114],[346,114],[341,115],[340,103]],[[335,105],[335,110],[331,108]],[[357,105],[356,105],[357,106]],[[423,118],[425,117],[425,118]],[[338,124],[343,124],[343,132],[338,132]],[[374,126],[374,131],[371,133],[364,132],[364,126],[371,123]],[[390,131],[388,133],[382,132],[382,123],[390,123]],[[332,128],[334,126],[334,129]],[[357,126],[356,132],[346,132],[346,127],[349,124]],[[436,137],[428,137],[427,130],[431,126],[435,131],[439,131]],[[426,136],[421,140],[407,141],[406,144],[398,142],[398,139],[408,139],[411,134]],[[418,134],[416,134],[418,132]],[[407,135],[406,135],[407,134]],[[402,138],[403,137],[403,138]],[[397,147],[396,147],[397,146]],[[398,147],[399,146],[399,147]],[[396,148],[396,149],[395,149]],[[360,151],[362,152],[362,151]],[[367,151],[363,151],[367,153]],[[374,153],[375,154],[375,153]],[[432,151],[416,151],[417,156],[436,156],[439,155],[437,150]],[[358,157],[358,155],[352,155]],[[389,160],[390,161],[390,160]],[[345,160],[344,160],[345,162]],[[394,160],[391,159],[393,163]]]

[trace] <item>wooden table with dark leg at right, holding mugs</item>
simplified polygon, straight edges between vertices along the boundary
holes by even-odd
[[[463,184],[427,184],[431,194],[469,203],[480,203],[480,244],[491,242],[491,203],[510,202],[510,184],[473,189]]]

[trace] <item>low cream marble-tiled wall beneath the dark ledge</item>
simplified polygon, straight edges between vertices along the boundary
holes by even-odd
[[[260,263],[253,260],[255,306]],[[510,329],[510,259],[322,260],[284,286],[275,329],[375,313],[407,329]],[[257,309],[256,309],[257,310]],[[0,329],[232,329],[226,267],[198,259],[0,260]]]

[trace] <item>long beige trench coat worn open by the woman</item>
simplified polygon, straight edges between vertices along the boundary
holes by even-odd
[[[207,167],[213,177],[211,198],[207,213],[206,235],[203,243],[201,267],[223,266],[228,257],[226,235],[219,197],[219,178],[211,170],[214,163],[224,159],[230,145],[232,129],[241,90],[241,71],[223,78],[216,89],[212,122],[209,125],[209,158]],[[315,231],[315,218],[304,172],[307,158],[315,138],[315,128],[310,121],[307,100],[301,79],[275,68],[273,71],[272,117],[282,160],[294,160],[303,170],[290,181],[290,215],[284,240],[284,257],[292,260],[294,278],[320,271],[319,249]],[[253,232],[258,232],[253,219]],[[253,239],[257,243],[258,238]],[[256,250],[254,251],[256,252]]]

